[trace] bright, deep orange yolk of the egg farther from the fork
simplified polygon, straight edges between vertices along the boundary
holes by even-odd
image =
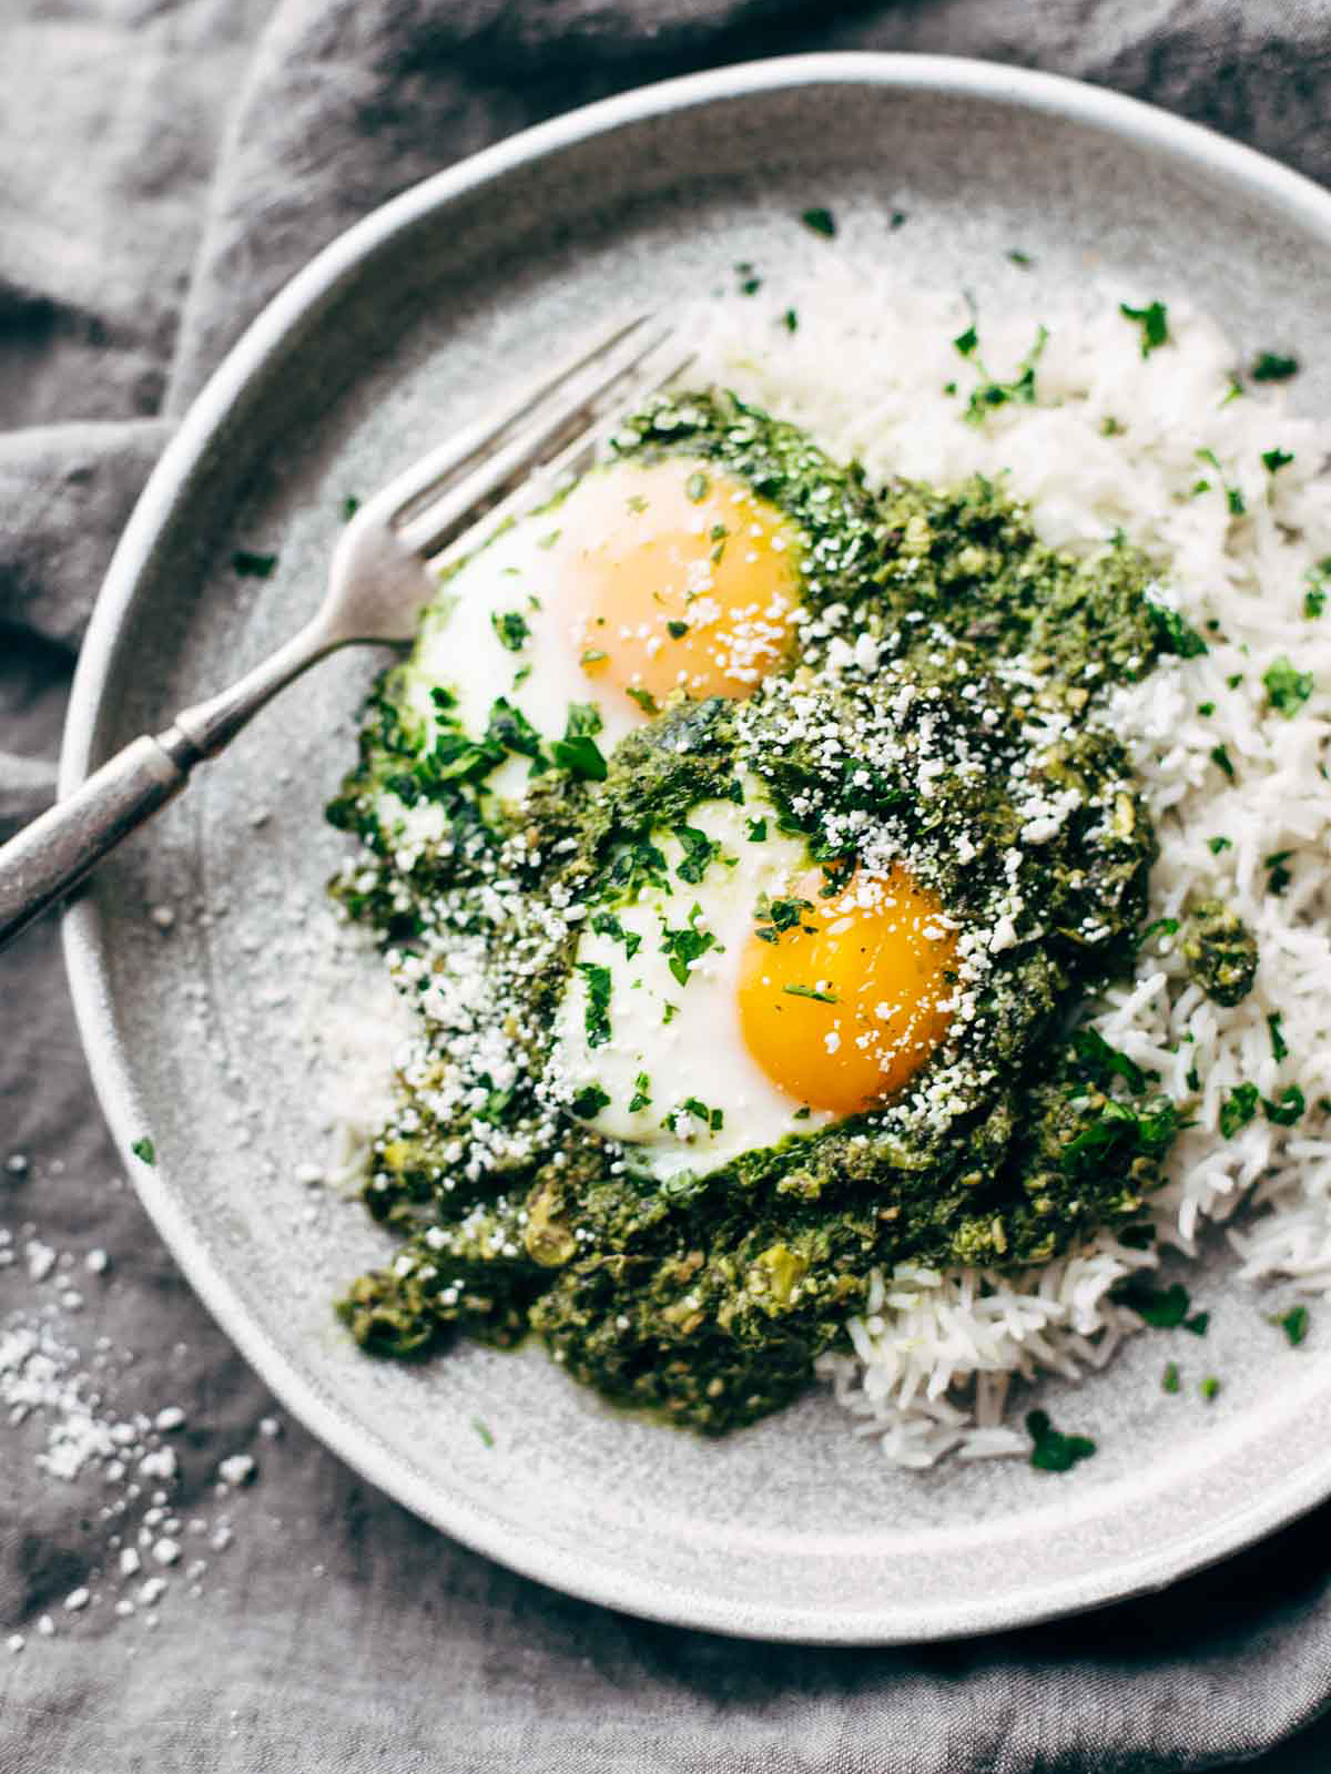
[[[847,1116],[902,1089],[946,1034],[957,937],[903,867],[857,871],[831,898],[825,885],[822,873],[802,876],[754,928],[740,963],[740,1027],[774,1084]]]

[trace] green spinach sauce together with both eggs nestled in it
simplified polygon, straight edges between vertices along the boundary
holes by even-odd
[[[717,392],[628,420],[440,585],[332,807],[419,1011],[355,1338],[534,1332],[717,1433],[875,1272],[1139,1215],[1177,1111],[1079,1027],[1155,857],[1102,710],[1194,646],[983,479],[871,488]]]

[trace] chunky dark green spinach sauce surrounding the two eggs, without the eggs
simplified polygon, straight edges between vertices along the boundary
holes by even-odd
[[[463,1061],[444,1034],[405,1070],[364,1190],[405,1242],[339,1311],[367,1350],[399,1357],[454,1332],[511,1345],[534,1330],[607,1398],[721,1433],[809,1384],[873,1270],[1022,1270],[1139,1215],[1178,1111],[1075,1031],[1088,997],[1132,970],[1155,857],[1100,708],[1161,655],[1203,644],[1143,557],[1047,548],[988,481],[877,493],[793,426],[710,394],[657,403],[616,447],[715,463],[799,523],[800,656],[747,703],[667,704],[603,757],[579,717],[570,736],[600,768],[586,747],[543,747],[502,699],[476,736],[440,692],[431,736],[401,672],[376,687],[330,809],[362,841],[334,891],[422,992],[449,953],[472,954],[490,1022]],[[845,665],[862,635],[870,671]],[[797,703],[841,743],[792,740]],[[499,805],[484,781],[515,754],[529,793]],[[579,924],[561,915],[575,903],[614,921],[664,866],[653,834],[742,800],[745,772],[770,804],[758,823],[799,834],[831,882],[873,820],[985,940],[955,1038],[898,1098],[653,1180],[547,1086],[577,956]],[[419,807],[438,809],[440,836],[403,844],[398,821]]]

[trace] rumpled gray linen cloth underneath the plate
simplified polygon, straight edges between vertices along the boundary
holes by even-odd
[[[204,376],[346,224],[500,135],[696,67],[905,48],[1100,80],[1331,179],[1311,0],[2,11],[0,834],[51,795],[98,580]],[[60,1476],[99,1435],[121,1476]],[[0,1774],[1200,1769],[1331,1698],[1326,1511],[1164,1597],[923,1652],[644,1625],[453,1545],[282,1423],[176,1274],[50,919],[0,958]],[[1315,1735],[1272,1774],[1331,1763]]]

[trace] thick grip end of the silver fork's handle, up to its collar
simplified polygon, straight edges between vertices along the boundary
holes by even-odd
[[[0,949],[179,793],[197,759],[177,727],[146,733],[0,846]]]

